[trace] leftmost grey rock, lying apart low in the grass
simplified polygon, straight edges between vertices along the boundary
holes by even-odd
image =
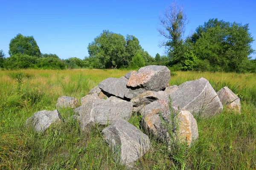
[[[26,119],[26,125],[32,126],[35,131],[43,132],[52,123],[61,121],[61,115],[57,110],[54,111],[38,111],[33,116]]]

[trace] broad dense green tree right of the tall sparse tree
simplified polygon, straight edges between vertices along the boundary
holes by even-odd
[[[210,19],[199,26],[189,41],[196,56],[218,70],[239,72],[254,53],[249,25]]]

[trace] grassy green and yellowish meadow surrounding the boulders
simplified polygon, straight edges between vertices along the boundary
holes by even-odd
[[[0,71],[0,169],[125,170],[115,163],[99,128],[83,133],[70,119],[72,109],[60,109],[64,123],[44,133],[26,128],[26,119],[41,110],[54,110],[59,96],[77,99],[108,77],[128,70],[19,70]],[[241,113],[225,110],[212,118],[195,117],[199,139],[174,152],[151,138],[152,148],[134,169],[244,170],[256,168],[256,74],[172,73],[170,85],[204,77],[215,91],[228,86],[241,99]],[[140,115],[130,121],[140,128]],[[174,154],[175,153],[175,154]]]

